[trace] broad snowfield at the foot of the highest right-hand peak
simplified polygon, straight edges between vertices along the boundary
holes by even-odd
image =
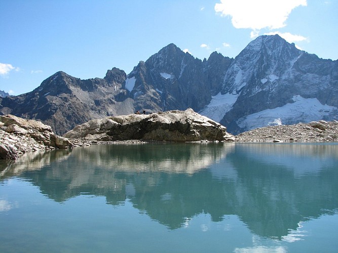
[[[306,99],[296,95],[292,97],[292,100],[294,103],[241,117],[236,123],[244,131],[249,131],[268,125],[317,121],[328,116],[333,110],[337,110],[337,107],[322,105],[317,98]]]

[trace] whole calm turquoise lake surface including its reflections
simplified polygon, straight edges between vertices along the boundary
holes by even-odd
[[[2,161],[0,252],[338,252],[338,145],[114,144]]]

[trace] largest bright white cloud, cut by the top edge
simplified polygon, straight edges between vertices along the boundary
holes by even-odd
[[[220,0],[220,2],[215,4],[216,12],[220,12],[222,16],[231,16],[235,28],[250,28],[255,34],[262,28],[284,27],[294,8],[307,6],[307,0]]]

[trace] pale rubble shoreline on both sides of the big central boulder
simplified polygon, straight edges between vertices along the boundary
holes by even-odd
[[[227,135],[228,138],[224,140],[227,142],[337,142],[338,121],[319,120],[294,125],[267,126],[237,136],[231,136],[229,133]],[[55,135],[50,126],[39,121],[22,119],[13,115],[0,116],[0,159],[16,159],[24,153],[59,148],[144,142],[149,141],[63,138]],[[194,142],[211,141],[198,140]]]

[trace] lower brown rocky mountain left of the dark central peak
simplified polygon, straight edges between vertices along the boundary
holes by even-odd
[[[117,109],[131,113],[128,101],[116,102],[126,73],[117,68],[106,76],[81,80],[62,71],[44,80],[32,92],[2,100],[2,114],[38,119],[59,135],[93,118],[115,115]]]

